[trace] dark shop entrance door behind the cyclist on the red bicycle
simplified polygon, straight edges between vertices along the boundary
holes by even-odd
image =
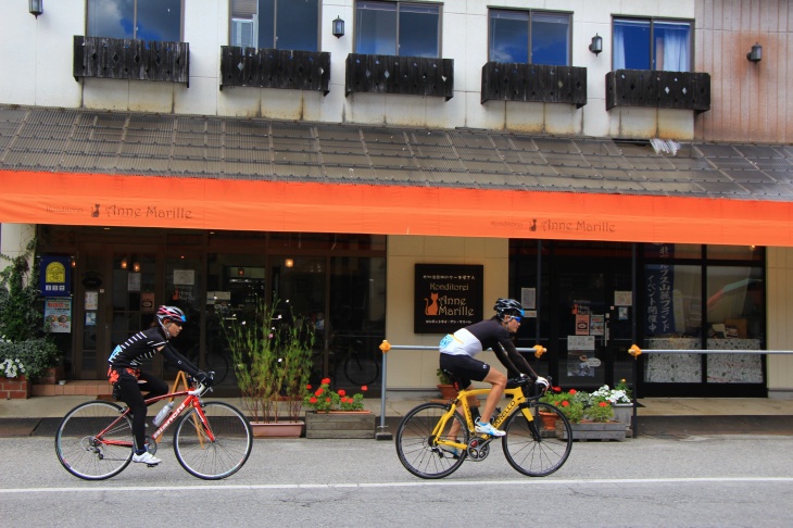
[[[75,281],[75,379],[102,379],[111,351],[154,319],[161,252],[152,244],[84,243]],[[161,362],[144,368],[160,375]]]

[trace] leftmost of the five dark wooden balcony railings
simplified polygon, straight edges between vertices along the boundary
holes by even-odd
[[[189,88],[190,45],[75,35],[73,75],[75,80],[164,80]]]

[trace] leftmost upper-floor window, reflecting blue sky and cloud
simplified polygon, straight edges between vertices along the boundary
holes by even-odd
[[[87,36],[178,42],[181,0],[88,0]]]

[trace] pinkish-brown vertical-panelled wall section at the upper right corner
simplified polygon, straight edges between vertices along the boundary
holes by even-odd
[[[696,72],[713,79],[696,116],[705,141],[793,142],[793,0],[697,0]],[[763,60],[746,53],[755,42]]]

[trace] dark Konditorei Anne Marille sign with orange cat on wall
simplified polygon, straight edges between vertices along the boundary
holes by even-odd
[[[484,266],[416,264],[413,331],[450,334],[483,318]]]

